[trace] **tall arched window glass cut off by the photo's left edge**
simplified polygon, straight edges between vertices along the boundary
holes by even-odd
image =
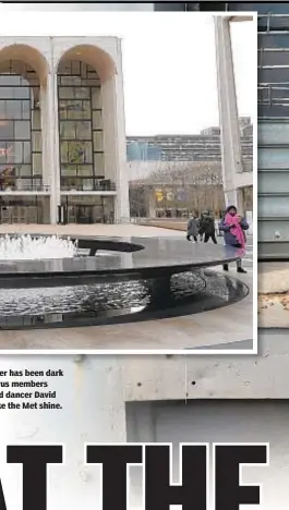
[[[9,61],[2,69],[0,190],[32,190],[36,182],[38,189],[43,173],[39,80],[21,61]]]

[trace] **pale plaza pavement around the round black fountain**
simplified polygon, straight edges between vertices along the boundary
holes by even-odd
[[[1,224],[0,233],[45,233],[106,236],[183,236],[184,232],[137,224]],[[221,242],[221,240],[220,240]],[[252,244],[252,243],[251,243]],[[2,350],[188,350],[220,345],[221,349],[250,349],[253,336],[252,253],[250,242],[244,267],[248,275],[238,275],[236,265],[230,275],[242,279],[251,292],[239,303],[224,308],[158,320],[79,328],[0,331]],[[240,342],[240,343],[239,343]],[[221,352],[221,350],[219,350]]]

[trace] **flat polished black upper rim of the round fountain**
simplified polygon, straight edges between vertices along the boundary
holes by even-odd
[[[31,238],[52,236],[51,234],[33,233],[5,233],[8,236],[29,235]],[[0,262],[0,288],[20,289],[20,288],[48,288],[48,287],[69,287],[80,284],[93,284],[99,282],[112,282],[121,280],[139,280],[149,278],[170,278],[172,275],[209,268],[229,264],[237,260],[240,255],[236,250],[228,250],[224,245],[202,245],[201,243],[189,243],[185,239],[176,238],[120,238],[120,236],[83,236],[83,235],[58,235],[59,239],[72,242],[77,241],[79,248],[89,248],[98,245],[98,250],[115,251],[118,256],[112,255],[109,262],[101,262],[95,256],[77,256],[71,258],[43,258],[43,259],[21,259],[21,260],[1,260]],[[159,242],[166,243],[166,247],[150,254],[153,244]],[[177,244],[176,244],[177,243]],[[106,245],[106,247],[104,247]],[[107,247],[107,246],[110,247]],[[169,247],[173,246],[180,254],[176,256],[169,253]],[[124,248],[133,248],[128,252]],[[112,250],[115,248],[115,250]],[[123,250],[120,250],[123,248]],[[206,254],[212,252],[212,256]],[[214,253],[215,252],[215,253]],[[203,258],[202,258],[203,253]],[[133,254],[133,263],[130,256]],[[195,255],[195,257],[194,257]],[[204,255],[206,255],[204,257]],[[113,260],[115,257],[115,260]],[[106,258],[106,257],[103,257]],[[84,267],[83,260],[91,260],[91,267]],[[58,269],[57,263],[72,263],[71,268]],[[100,264],[99,264],[100,262]],[[113,266],[115,262],[115,267]],[[121,264],[120,264],[121,262]],[[95,267],[92,267],[95,263]],[[111,266],[109,266],[111,263]],[[44,268],[44,264],[47,265]],[[49,267],[50,265],[50,267]],[[14,270],[13,270],[14,269]],[[19,270],[17,270],[19,269]]]

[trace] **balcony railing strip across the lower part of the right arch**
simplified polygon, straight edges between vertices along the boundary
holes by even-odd
[[[87,177],[61,177],[62,192],[115,192],[116,183],[110,179]]]

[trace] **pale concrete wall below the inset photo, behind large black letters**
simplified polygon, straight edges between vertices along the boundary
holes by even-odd
[[[63,371],[62,377],[38,379],[49,380],[48,389],[57,391],[57,399],[47,400],[60,402],[61,410],[1,413],[0,470],[8,508],[21,508],[20,466],[4,465],[8,444],[64,442],[65,466],[49,467],[53,487],[49,505],[74,510],[89,508],[92,501],[98,508],[99,470],[84,465],[84,442],[153,437],[176,445],[202,438],[272,440],[273,469],[266,478],[270,505],[265,508],[285,509],[272,505],[272,491],[277,484],[274,466],[279,470],[278,484],[288,479],[289,413],[286,402],[268,401],[288,399],[288,337],[264,335],[260,343],[257,356],[3,356],[1,371]],[[237,399],[239,404],[217,399]],[[242,404],[241,399],[252,403]],[[260,404],[258,399],[268,401]],[[185,400],[191,401],[188,408]],[[156,402],[155,408],[149,401]],[[140,408],[137,427],[128,402],[148,402]],[[152,421],[153,409],[156,420]],[[256,476],[265,479],[263,474]],[[281,489],[278,494],[284,495]]]

